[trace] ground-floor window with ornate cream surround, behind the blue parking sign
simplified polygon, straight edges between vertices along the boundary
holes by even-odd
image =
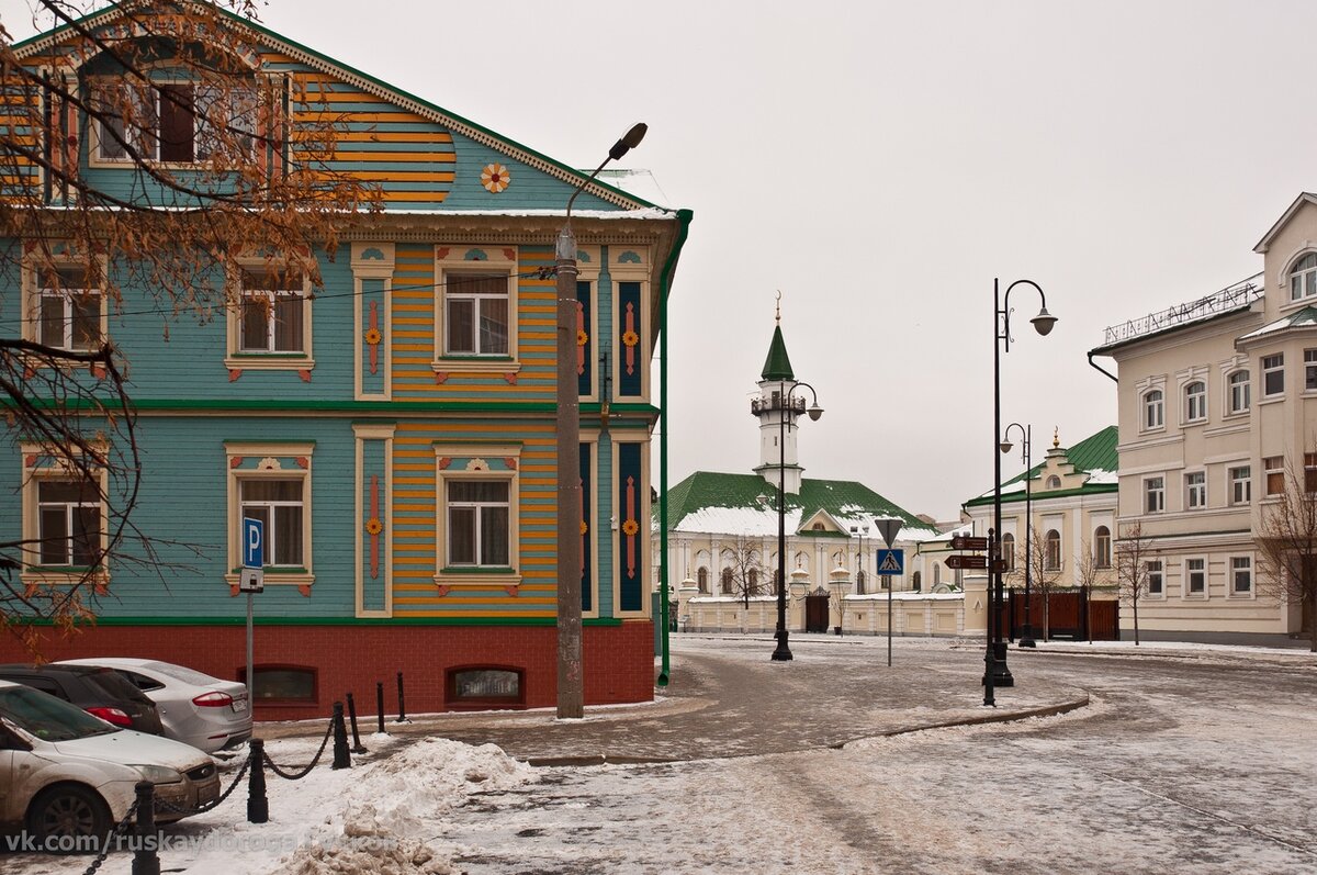
[[[265,584],[309,586],[312,571],[312,441],[225,441],[229,478],[229,573],[236,586],[242,565],[242,519],[265,530]]]

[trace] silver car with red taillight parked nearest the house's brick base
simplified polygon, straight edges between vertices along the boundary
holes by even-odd
[[[183,665],[154,659],[97,656],[66,664],[113,668],[155,702],[166,738],[213,754],[252,738],[252,705],[246,687]]]

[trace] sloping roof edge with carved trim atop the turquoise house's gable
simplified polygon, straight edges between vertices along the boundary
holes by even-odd
[[[187,1],[187,0],[183,0]],[[391,104],[402,107],[406,111],[414,112],[421,117],[429,119],[449,130],[469,137],[470,140],[498,152],[499,154],[515,158],[541,173],[545,173],[553,178],[566,182],[572,186],[577,186],[589,178],[587,171],[576,170],[564,165],[560,161],[536,152],[528,146],[524,146],[514,140],[510,140],[483,125],[479,125],[469,119],[464,119],[454,112],[449,112],[443,107],[439,107],[428,100],[417,98],[407,91],[396,88],[375,76],[357,70],[349,65],[316,51],[308,46],[302,45],[294,40],[290,40],[269,28],[265,28],[250,18],[244,18],[233,13],[229,9],[221,7],[211,7],[221,17],[232,21],[237,28],[246,29],[253,34],[258,34],[261,42],[282,54],[286,54],[294,61],[306,63],[327,75],[338,78],[344,82],[352,83],[360,87],[366,94],[371,94],[377,98],[387,100]],[[14,57],[20,61],[40,55],[51,47],[58,46],[63,40],[76,38],[79,30],[82,29],[96,29],[115,22],[122,18],[124,13],[117,5],[109,5],[104,9],[91,12],[82,18],[75,20],[72,24],[65,24],[45,33],[40,33],[34,37],[29,37],[21,42],[13,45]],[[583,188],[585,192],[595,195],[597,198],[620,207],[623,210],[662,210],[657,204],[643,200],[636,195],[628,194],[620,188],[616,188],[605,182],[595,179]],[[578,211],[583,212],[583,211]],[[665,210],[665,212],[669,212]]]

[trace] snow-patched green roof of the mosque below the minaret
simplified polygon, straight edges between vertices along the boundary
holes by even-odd
[[[668,519],[672,531],[766,538],[777,534],[776,502],[777,489],[757,474],[697,470],[668,492]],[[935,531],[864,484],[810,478],[801,482],[798,495],[786,495],[786,531],[795,532],[802,521],[819,511],[847,534],[851,526],[859,526],[868,527],[868,536],[877,538],[874,517],[901,518],[901,540]]]

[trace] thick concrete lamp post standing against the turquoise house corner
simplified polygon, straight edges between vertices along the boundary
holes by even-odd
[[[572,204],[594,182],[605,165],[631,152],[645,136],[644,123],[612,145],[608,157],[568,198],[562,231],[554,245],[557,269],[557,498],[558,498],[558,712],[560,720],[585,714],[585,676],[581,668],[581,399],[577,387],[577,246],[572,233]],[[666,613],[666,589],[658,598]],[[662,618],[666,622],[666,617]]]

